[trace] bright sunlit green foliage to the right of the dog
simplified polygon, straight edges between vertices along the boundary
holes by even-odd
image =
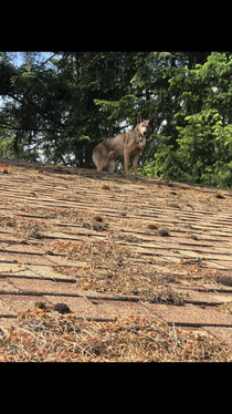
[[[231,187],[232,55],[213,52],[193,68],[166,66],[166,79],[173,117],[166,117],[157,134],[157,152],[145,163],[144,174]]]

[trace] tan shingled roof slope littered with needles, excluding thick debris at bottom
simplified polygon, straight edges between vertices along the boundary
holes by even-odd
[[[0,327],[35,302],[232,345],[232,190],[0,159]]]

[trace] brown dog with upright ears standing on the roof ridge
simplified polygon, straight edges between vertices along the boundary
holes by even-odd
[[[129,157],[133,157],[133,168],[135,174],[138,175],[138,158],[146,147],[146,138],[154,131],[154,121],[155,115],[148,121],[144,121],[141,115],[138,114],[137,125],[134,130],[99,143],[93,152],[93,162],[97,170],[113,173],[115,169],[115,159],[124,157],[126,174],[129,175]]]

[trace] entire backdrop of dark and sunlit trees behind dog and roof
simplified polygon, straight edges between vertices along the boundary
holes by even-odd
[[[101,139],[155,114],[140,173],[232,186],[232,53],[15,58],[0,53],[0,156],[88,168]]]

